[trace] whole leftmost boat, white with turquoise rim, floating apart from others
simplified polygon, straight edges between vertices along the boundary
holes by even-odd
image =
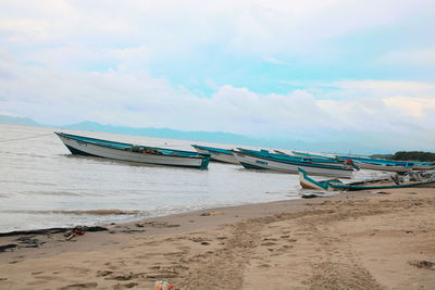
[[[210,160],[210,154],[206,153],[136,146],[65,133],[54,134],[62,140],[72,154],[77,155],[199,169],[207,169]]]

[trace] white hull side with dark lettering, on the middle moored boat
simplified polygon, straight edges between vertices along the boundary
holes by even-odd
[[[262,159],[254,155],[249,155],[240,152],[233,152],[237,161],[246,168],[250,169],[272,169],[284,173],[297,174],[298,168],[303,168],[310,175],[330,176],[330,177],[344,177],[350,178],[352,175],[351,169],[328,168],[327,166],[315,166],[315,164],[291,164],[289,162],[279,162],[269,159]]]

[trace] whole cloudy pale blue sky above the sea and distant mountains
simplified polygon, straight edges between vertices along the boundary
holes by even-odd
[[[434,151],[434,15],[433,0],[1,0],[0,114]]]

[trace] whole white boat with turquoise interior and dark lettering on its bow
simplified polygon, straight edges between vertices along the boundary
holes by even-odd
[[[269,152],[269,151],[268,151]],[[344,164],[321,164],[303,161],[298,157],[276,156],[274,153],[266,153],[254,150],[233,150],[237,161],[248,169],[271,169],[284,173],[297,174],[298,168],[306,169],[311,175],[350,178],[353,168]]]

